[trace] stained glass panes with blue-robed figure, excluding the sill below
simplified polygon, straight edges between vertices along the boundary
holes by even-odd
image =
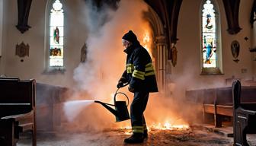
[[[210,0],[203,5],[202,39],[203,68],[216,68],[216,16]]]

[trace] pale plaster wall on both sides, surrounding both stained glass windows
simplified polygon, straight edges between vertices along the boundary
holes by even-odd
[[[0,0],[2,2],[2,0]],[[45,8],[46,0],[34,0],[30,9],[28,24],[32,27],[21,34],[15,27],[18,23],[17,1],[4,1],[4,25],[2,59],[0,59],[0,73],[20,78],[36,78],[38,82],[46,84],[72,87],[73,70],[79,64],[80,49],[87,38],[85,18],[81,5],[82,0],[65,1],[66,11],[66,43],[64,74],[46,75],[44,42],[45,33]],[[200,3],[201,0],[183,0],[178,20],[178,63],[171,69],[171,81],[177,85],[174,90],[186,90],[190,88],[215,87],[226,84],[226,78],[242,78],[249,80],[253,76],[253,61],[251,52],[248,51],[250,41],[244,37],[250,37],[249,16],[253,0],[242,0],[240,3],[239,24],[241,32],[230,35],[227,30],[226,13],[222,0],[219,4],[221,31],[222,31],[222,62],[224,75],[200,75]],[[233,40],[240,43],[240,55],[238,63],[233,62],[230,44]],[[30,56],[21,58],[15,56],[15,45],[24,42],[30,46]],[[242,73],[242,70],[246,72]],[[3,71],[3,72],[1,72]]]

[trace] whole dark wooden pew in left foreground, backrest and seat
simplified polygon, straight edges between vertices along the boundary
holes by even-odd
[[[32,132],[37,145],[35,84],[34,79],[0,78],[0,145],[16,145],[25,131]]]

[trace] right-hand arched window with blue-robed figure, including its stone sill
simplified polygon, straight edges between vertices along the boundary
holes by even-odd
[[[202,74],[221,74],[222,56],[218,8],[213,0],[203,0],[201,9]]]

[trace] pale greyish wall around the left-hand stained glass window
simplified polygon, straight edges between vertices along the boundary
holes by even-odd
[[[65,14],[65,63],[66,72],[64,74],[47,75],[45,71],[45,54],[47,53],[44,41],[45,33],[45,13],[47,0],[34,0],[30,8],[28,24],[31,28],[25,33],[21,33],[15,25],[18,23],[18,6],[16,0],[5,1],[7,13],[5,13],[5,32],[3,37],[5,43],[5,75],[18,76],[20,78],[36,78],[37,82],[72,87],[73,70],[80,62],[80,49],[86,40],[86,29],[83,24],[83,10],[79,8],[84,1],[65,1],[64,8],[68,11]],[[69,22],[69,23],[67,23]],[[72,22],[72,23],[70,23]],[[67,35],[69,34],[69,35]],[[29,56],[21,58],[15,56],[15,46],[21,42],[29,44]]]

